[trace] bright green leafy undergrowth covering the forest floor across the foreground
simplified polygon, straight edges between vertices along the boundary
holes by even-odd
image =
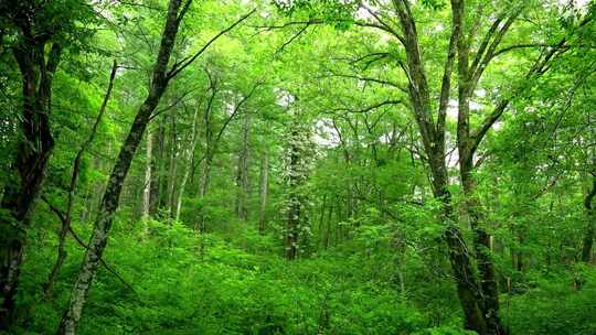
[[[135,291],[102,269],[81,334],[466,334],[449,282],[437,290],[432,280],[416,277],[415,264],[406,264],[404,292],[394,266],[382,259],[330,251],[287,262],[272,257],[277,248],[273,238],[254,231],[246,234],[253,246],[248,252],[182,224],[150,221],[135,229],[115,231],[105,255]],[[22,313],[21,333],[52,334],[82,249],[70,246],[77,257],[64,266],[55,299],[43,301],[38,292],[55,249],[43,245],[47,239],[35,240],[20,292],[21,304],[34,307]],[[552,299],[555,293],[560,299]],[[571,292],[546,281],[512,304],[508,312],[514,317],[508,322],[513,334],[587,335],[596,329],[594,284]]]

